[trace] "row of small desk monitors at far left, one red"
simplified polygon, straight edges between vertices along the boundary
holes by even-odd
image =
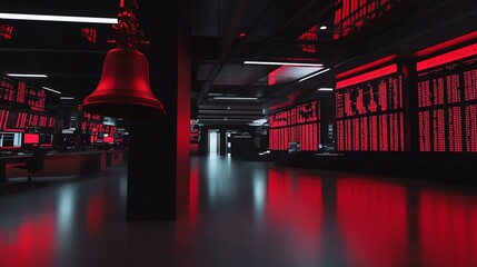
[[[53,146],[53,135],[40,132],[0,131],[0,150],[22,150]]]

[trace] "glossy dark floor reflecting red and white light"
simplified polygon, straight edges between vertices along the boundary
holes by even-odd
[[[0,266],[477,266],[477,189],[191,158],[188,218],[126,221],[127,165],[0,196]]]

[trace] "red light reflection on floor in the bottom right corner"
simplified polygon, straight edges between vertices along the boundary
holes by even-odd
[[[421,191],[419,233],[425,266],[477,266],[477,200]]]

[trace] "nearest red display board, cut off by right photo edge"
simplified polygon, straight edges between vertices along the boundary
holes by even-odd
[[[419,151],[477,152],[477,43],[416,69]]]

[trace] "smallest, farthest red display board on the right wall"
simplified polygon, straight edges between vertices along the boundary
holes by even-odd
[[[319,102],[297,105],[269,116],[269,149],[288,150],[290,142],[302,151],[317,151],[319,144]]]

